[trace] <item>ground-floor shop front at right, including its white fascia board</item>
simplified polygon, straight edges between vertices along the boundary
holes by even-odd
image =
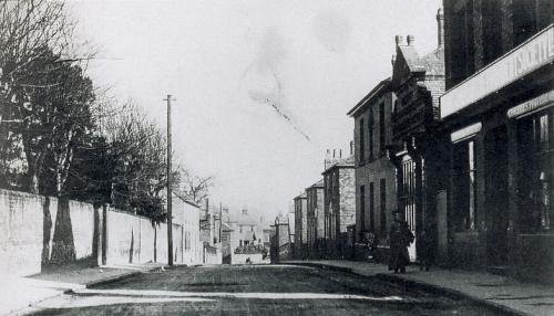
[[[554,276],[554,27],[441,97],[451,265]]]

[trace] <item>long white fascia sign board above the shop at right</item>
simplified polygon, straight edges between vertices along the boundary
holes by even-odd
[[[554,24],[497,59],[440,98],[441,118],[554,61]]]

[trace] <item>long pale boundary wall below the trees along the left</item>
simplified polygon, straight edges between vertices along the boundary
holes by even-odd
[[[173,224],[175,263],[186,255],[182,230]],[[143,217],[79,201],[0,190],[0,274],[167,262],[165,223],[153,225]]]

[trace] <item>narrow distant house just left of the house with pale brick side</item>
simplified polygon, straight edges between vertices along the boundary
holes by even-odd
[[[325,251],[324,179],[306,188],[307,242],[310,257],[319,257]]]

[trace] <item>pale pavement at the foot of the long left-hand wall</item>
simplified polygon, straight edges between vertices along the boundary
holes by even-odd
[[[0,315],[20,315],[44,299],[70,289],[113,282],[161,268],[163,264],[146,263],[125,266],[64,266],[31,276],[0,274]]]

